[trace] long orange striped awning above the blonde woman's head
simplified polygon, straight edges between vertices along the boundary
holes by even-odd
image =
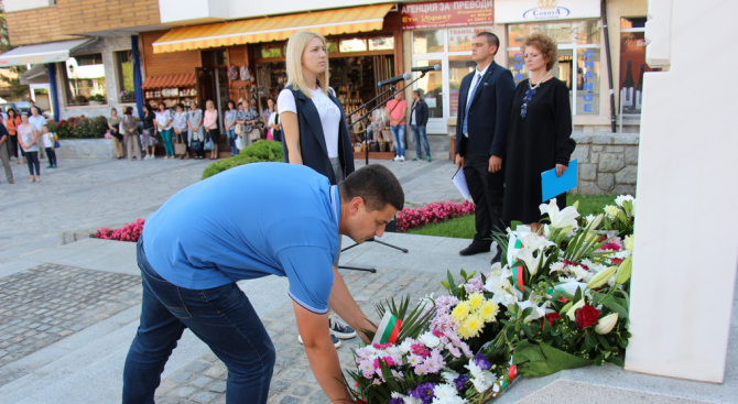
[[[282,41],[297,31],[323,35],[377,31],[394,3],[174,29],[153,43],[154,53]]]

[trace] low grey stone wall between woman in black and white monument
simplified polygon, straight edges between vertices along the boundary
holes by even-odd
[[[639,134],[573,133],[579,165],[579,184],[572,194],[620,195],[636,193]]]

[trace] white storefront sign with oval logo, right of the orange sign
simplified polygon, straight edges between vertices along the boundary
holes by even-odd
[[[495,0],[498,24],[599,18],[599,0]]]

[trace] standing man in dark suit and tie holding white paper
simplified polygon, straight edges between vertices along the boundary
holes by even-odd
[[[507,68],[495,63],[500,40],[490,32],[478,33],[471,44],[477,68],[462,80],[456,122],[456,167],[464,167],[469,193],[477,205],[477,233],[462,255],[490,250],[492,230],[504,229],[504,157],[508,121],[515,84]],[[498,253],[492,262],[499,260]]]

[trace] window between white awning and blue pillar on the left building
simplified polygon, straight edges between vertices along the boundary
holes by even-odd
[[[102,54],[69,57],[61,69],[67,102],[72,105],[107,102]]]

